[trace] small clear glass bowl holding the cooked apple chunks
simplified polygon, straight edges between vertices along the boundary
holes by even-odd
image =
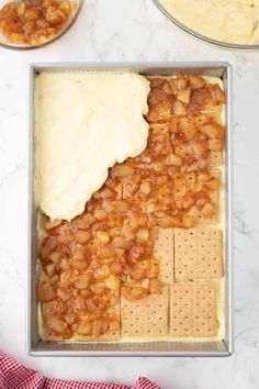
[[[9,3],[12,0],[0,0],[0,9]],[[15,0],[14,0],[15,1]],[[5,48],[12,48],[12,49],[32,49],[32,48],[40,48],[43,46],[48,45],[49,43],[58,40],[61,35],[64,35],[75,23],[77,16],[79,15],[82,5],[83,5],[83,0],[70,0],[71,3],[71,16],[68,21],[68,23],[64,26],[63,30],[60,30],[57,35],[53,36],[50,40],[47,40],[45,42],[38,43],[38,44],[27,44],[27,43],[12,43],[9,42],[5,36],[3,36],[2,33],[0,33],[0,46],[5,47]]]

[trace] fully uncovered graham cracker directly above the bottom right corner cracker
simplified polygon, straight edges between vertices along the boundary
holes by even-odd
[[[174,230],[177,280],[223,277],[222,231],[210,227]]]

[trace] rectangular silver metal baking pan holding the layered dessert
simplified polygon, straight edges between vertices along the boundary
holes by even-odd
[[[37,233],[34,205],[34,87],[42,71],[74,70],[131,70],[143,75],[174,75],[195,73],[221,77],[226,96],[225,143],[225,338],[221,342],[153,342],[153,343],[57,343],[43,342],[37,331]],[[227,63],[126,63],[126,64],[34,64],[30,69],[30,129],[29,129],[29,262],[27,262],[27,336],[26,349],[33,356],[229,356],[234,352],[233,338],[233,159],[232,159],[232,67]]]

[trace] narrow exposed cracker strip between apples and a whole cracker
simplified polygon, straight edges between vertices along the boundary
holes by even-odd
[[[173,229],[158,229],[154,254],[160,260],[160,280],[173,284]]]

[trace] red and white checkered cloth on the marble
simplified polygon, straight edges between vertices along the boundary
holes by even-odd
[[[160,389],[145,377],[133,387],[101,382],[76,382],[43,377],[0,351],[0,389]]]

